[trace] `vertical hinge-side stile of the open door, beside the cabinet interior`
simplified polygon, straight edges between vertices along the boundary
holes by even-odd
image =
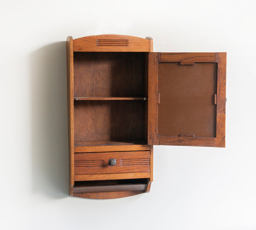
[[[157,92],[158,59],[160,53],[149,53],[148,58],[148,145],[158,145],[157,139]]]

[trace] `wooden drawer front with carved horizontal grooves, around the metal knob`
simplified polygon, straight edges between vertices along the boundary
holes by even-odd
[[[110,166],[109,160],[116,159]],[[75,175],[150,172],[150,151],[75,153]]]

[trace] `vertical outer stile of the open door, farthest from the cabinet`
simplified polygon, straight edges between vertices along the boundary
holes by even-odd
[[[217,71],[217,125],[214,147],[225,147],[226,119],[226,53],[216,53]]]

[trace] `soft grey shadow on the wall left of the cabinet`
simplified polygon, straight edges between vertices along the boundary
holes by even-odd
[[[66,42],[31,54],[33,192],[69,194]]]

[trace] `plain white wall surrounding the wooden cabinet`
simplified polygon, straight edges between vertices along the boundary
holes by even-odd
[[[1,229],[256,230],[255,1],[2,1]],[[148,194],[68,196],[66,37],[227,52],[226,148],[156,146]]]

